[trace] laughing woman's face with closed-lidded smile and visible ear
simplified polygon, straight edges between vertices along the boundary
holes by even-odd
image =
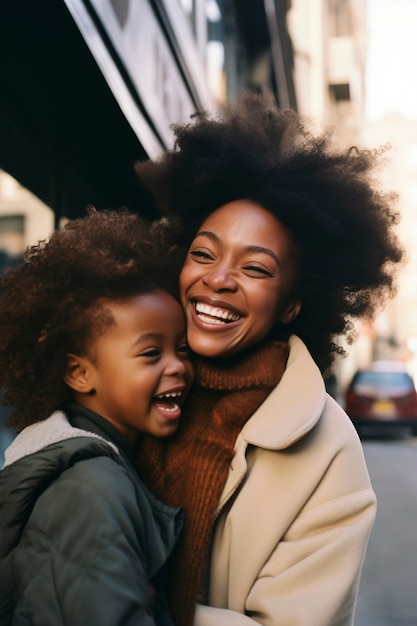
[[[294,248],[285,227],[249,200],[223,205],[202,223],[180,275],[188,343],[226,357],[260,343],[300,310],[291,298]]]

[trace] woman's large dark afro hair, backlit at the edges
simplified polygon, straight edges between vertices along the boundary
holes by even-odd
[[[395,233],[395,194],[377,188],[382,152],[335,149],[331,134],[309,131],[267,94],[246,93],[217,117],[196,114],[173,126],[176,141],[136,173],[165,215],[182,218],[189,244],[205,217],[248,199],[273,213],[297,251],[294,293],[302,302],[287,327],[323,372],[355,338],[355,318],[371,318],[395,294],[404,252]]]

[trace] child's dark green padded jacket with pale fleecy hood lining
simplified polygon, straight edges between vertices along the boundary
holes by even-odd
[[[182,512],[157,501],[87,418],[81,429],[56,412],[6,451],[2,626],[172,626],[160,570]]]

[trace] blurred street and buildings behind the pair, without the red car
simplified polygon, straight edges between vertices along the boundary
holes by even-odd
[[[380,360],[416,381],[416,66],[417,0],[0,0],[0,271],[90,204],[153,217],[133,162],[195,110],[268,89],[342,146],[385,150],[383,190],[399,194],[398,295],[358,327],[329,391],[344,406]],[[364,440],[380,513],[355,626],[417,626],[413,434]]]

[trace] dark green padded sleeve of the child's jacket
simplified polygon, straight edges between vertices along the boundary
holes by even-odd
[[[22,623],[155,626],[150,522],[123,466],[100,457],[66,470],[39,497],[16,550]]]

